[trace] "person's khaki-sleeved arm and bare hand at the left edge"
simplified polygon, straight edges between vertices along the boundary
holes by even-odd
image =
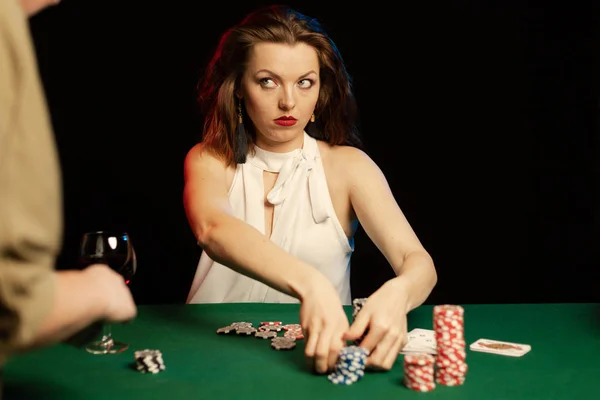
[[[136,313],[108,267],[54,271],[62,239],[55,146],[27,16],[18,1],[0,0],[0,355]]]

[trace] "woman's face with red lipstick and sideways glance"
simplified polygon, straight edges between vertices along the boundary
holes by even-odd
[[[239,95],[256,128],[256,145],[277,152],[301,147],[319,85],[319,59],[313,47],[304,43],[255,45]]]

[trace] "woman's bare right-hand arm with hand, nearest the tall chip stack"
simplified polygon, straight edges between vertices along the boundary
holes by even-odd
[[[370,352],[367,366],[389,370],[406,343],[406,315],[427,299],[437,274],[379,167],[356,149],[345,149],[344,157],[352,208],[396,272],[369,296],[345,338],[366,334],[360,345]]]

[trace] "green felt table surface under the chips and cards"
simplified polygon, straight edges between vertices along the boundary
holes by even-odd
[[[463,305],[467,344],[479,338],[531,344],[523,357],[467,349],[469,370],[459,387],[429,393],[402,385],[403,356],[391,371],[367,372],[350,386],[334,385],[305,367],[296,349],[276,351],[269,340],[217,335],[235,321],[298,322],[298,306],[216,304],[140,306],[135,321],[116,325],[124,353],[92,355],[55,345],[11,359],[6,399],[543,399],[600,398],[600,305]],[[350,318],[351,309],[347,308]],[[409,330],[432,329],[432,306],[408,317]],[[166,370],[141,374],[133,351],[160,349]],[[272,397],[275,396],[275,397]]]

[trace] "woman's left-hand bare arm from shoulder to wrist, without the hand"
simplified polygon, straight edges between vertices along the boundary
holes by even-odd
[[[232,214],[224,163],[196,145],[184,163],[184,207],[198,244],[216,262],[301,299],[318,270]]]

